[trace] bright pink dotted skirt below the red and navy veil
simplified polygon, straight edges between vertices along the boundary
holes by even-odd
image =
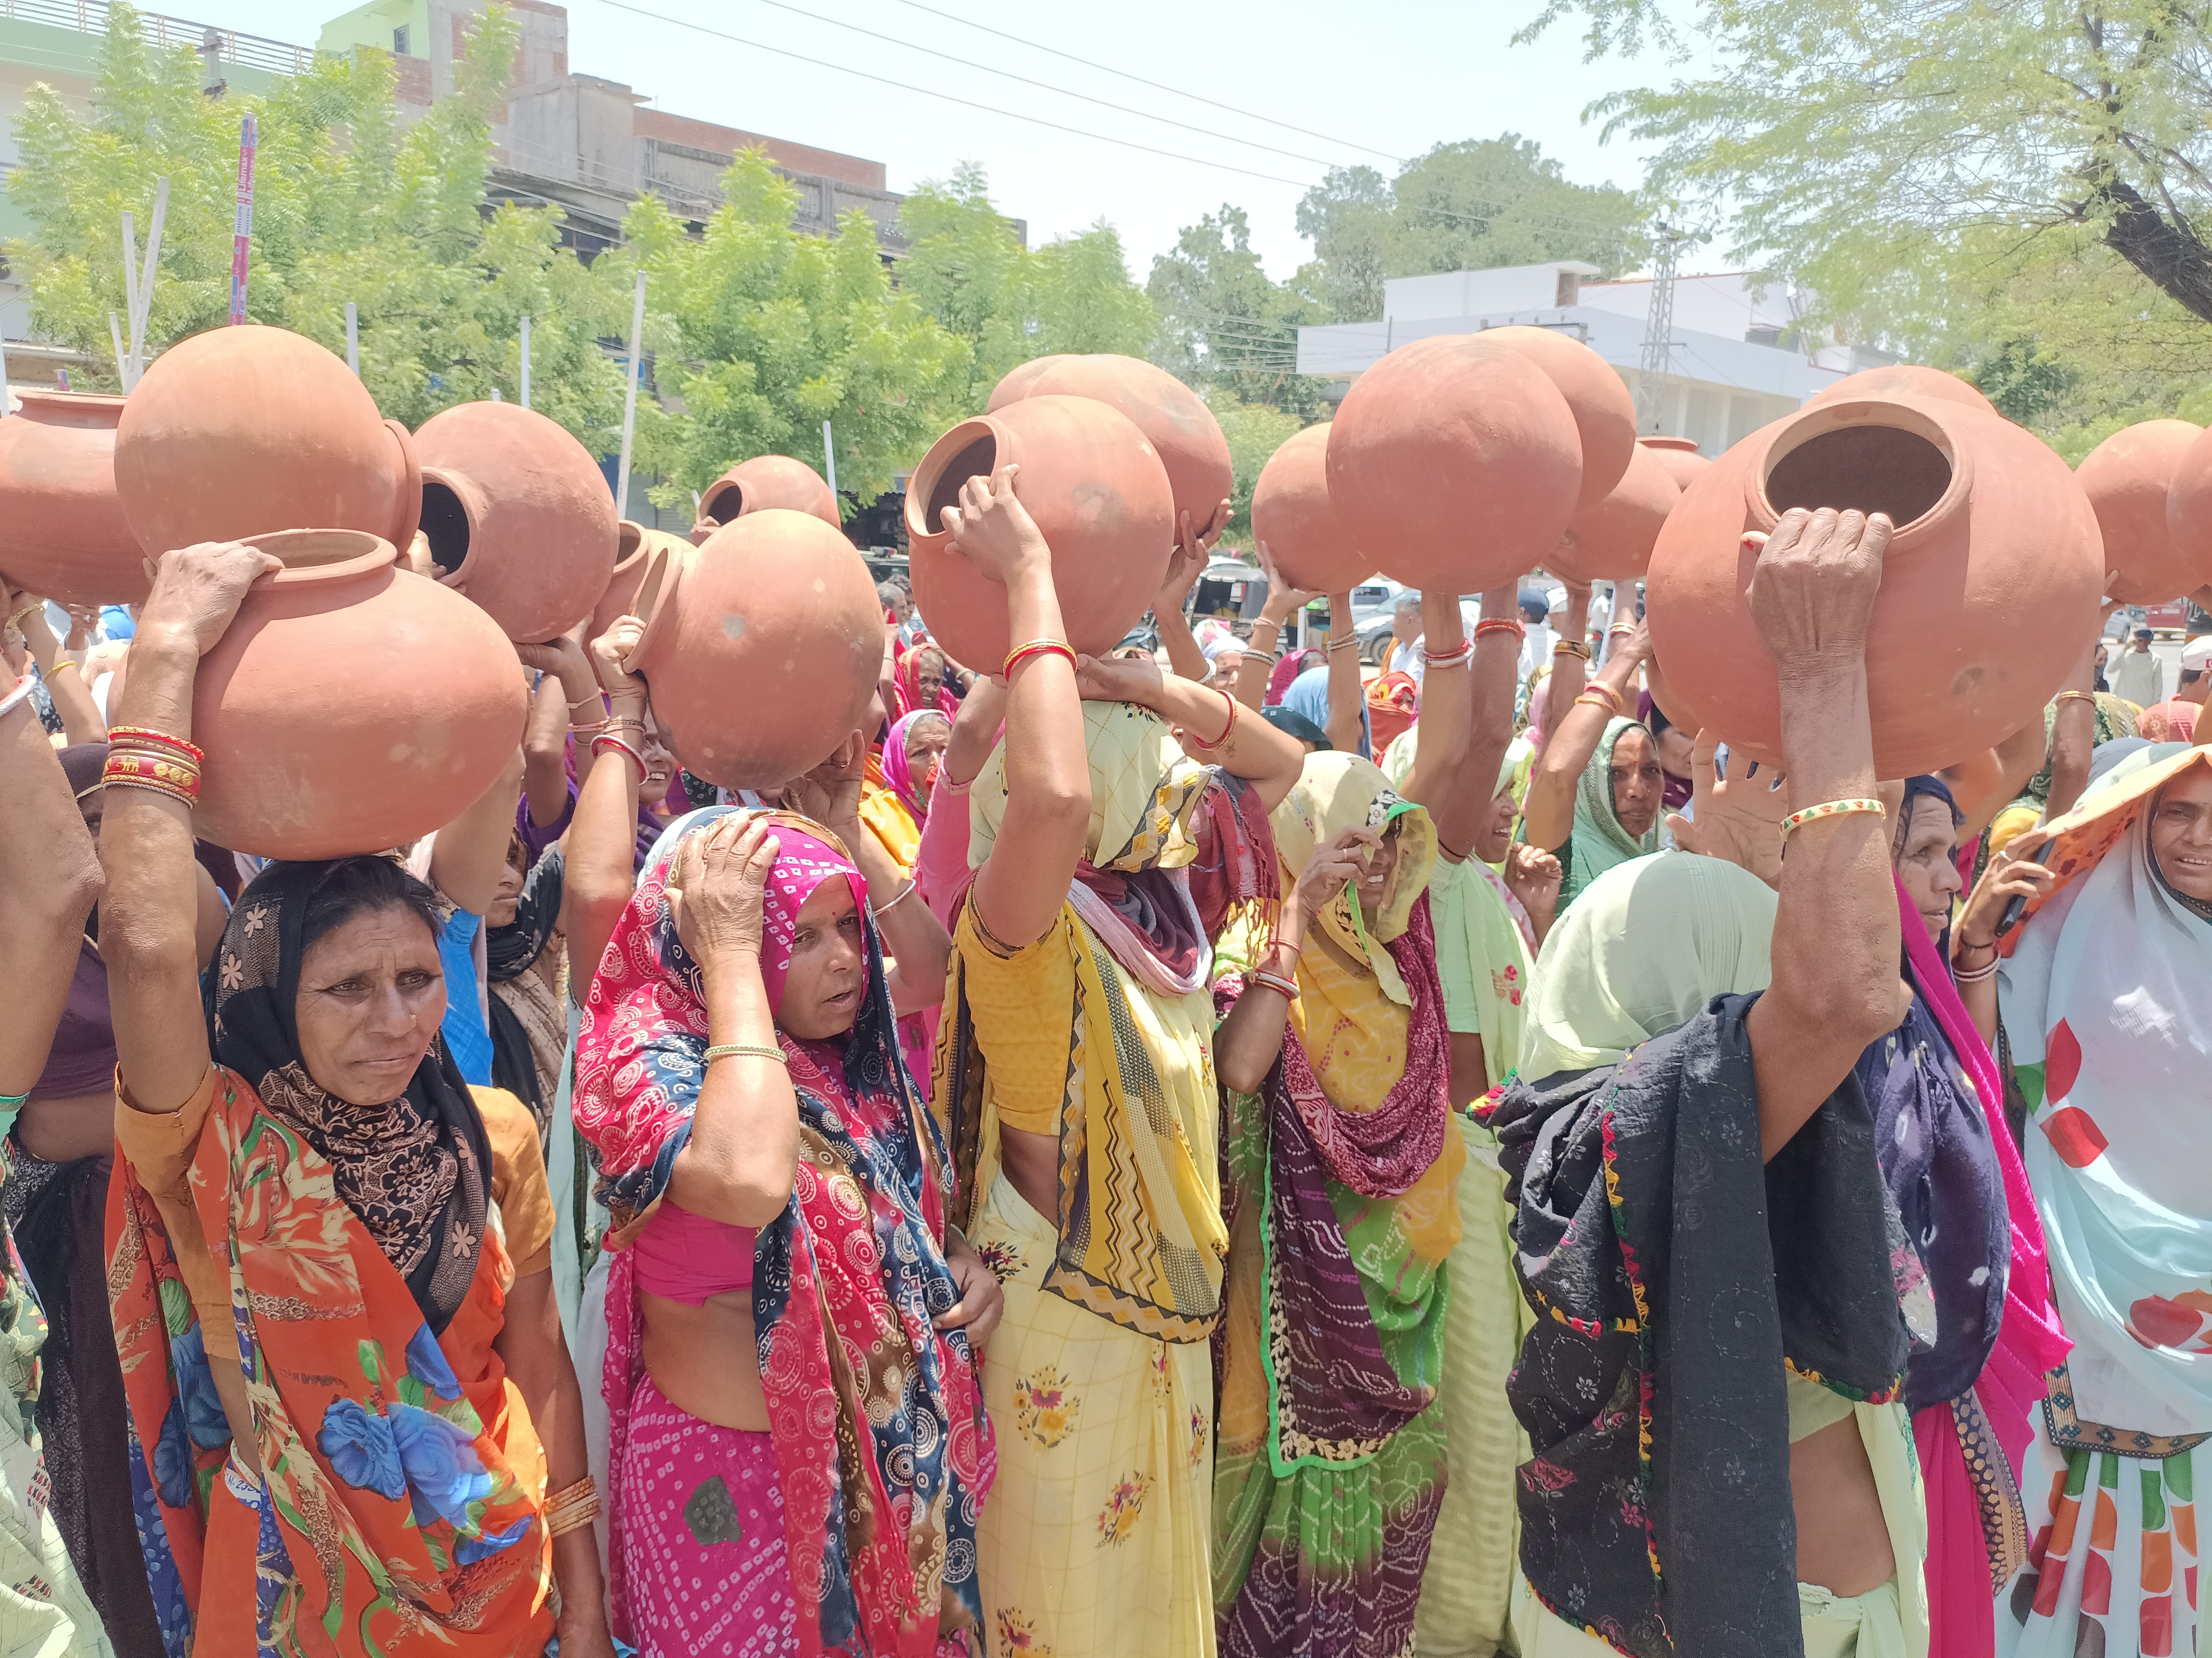
[[[639,1658],[799,1651],[783,1488],[765,1433],[701,1421],[646,1377],[613,1483]]]

